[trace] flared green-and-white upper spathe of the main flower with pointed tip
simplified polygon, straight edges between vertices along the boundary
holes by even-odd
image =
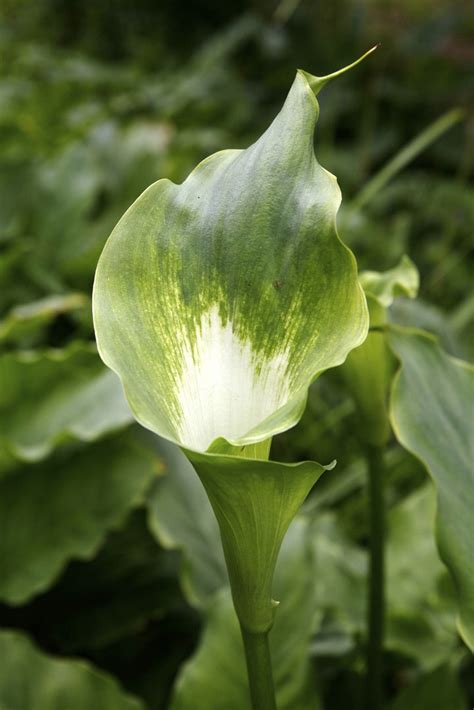
[[[298,71],[256,143],[211,155],[180,185],[151,185],[100,258],[100,354],[136,418],[189,450],[290,428],[310,383],[366,337],[355,259],[336,232],[340,190],[313,148],[316,94],[338,73]]]

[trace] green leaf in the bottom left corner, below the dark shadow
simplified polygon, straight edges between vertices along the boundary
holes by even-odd
[[[15,631],[0,631],[0,658],[2,710],[143,710],[111,676],[48,656]]]

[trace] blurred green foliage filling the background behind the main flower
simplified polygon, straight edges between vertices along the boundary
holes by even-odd
[[[468,3],[3,0],[0,707],[247,707],[216,524],[189,466],[132,423],[96,354],[94,269],[151,182],[181,181],[209,153],[249,145],[296,67],[329,73],[377,42],[321,95],[318,159],[338,176],[339,229],[360,267],[387,269],[408,253],[420,270],[420,298],[398,299],[392,318],[470,358]],[[453,107],[464,120],[358,198]],[[365,464],[337,370],[312,387],[272,455],[338,459],[278,568],[280,706],[337,710],[350,697],[362,708]],[[431,484],[394,442],[386,458],[388,706],[466,710],[474,667],[433,541]]]

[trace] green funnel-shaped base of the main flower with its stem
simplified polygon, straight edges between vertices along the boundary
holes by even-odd
[[[268,449],[262,443],[257,449],[239,449],[243,457],[186,451],[219,523],[255,710],[276,707],[268,632],[277,607],[272,581],[278,552],[288,526],[328,468],[311,461],[284,464],[245,457],[268,455]]]

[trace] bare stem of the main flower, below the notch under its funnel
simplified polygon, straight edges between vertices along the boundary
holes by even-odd
[[[253,710],[276,710],[268,632],[254,634],[243,627],[247,673]]]

